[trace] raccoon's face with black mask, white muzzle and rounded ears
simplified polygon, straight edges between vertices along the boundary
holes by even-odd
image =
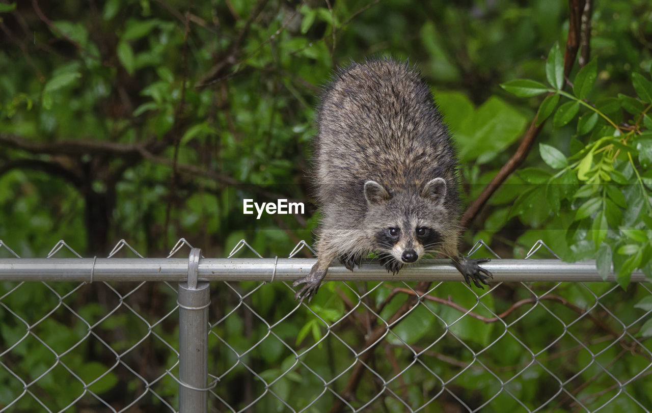
[[[415,263],[426,252],[438,249],[442,241],[439,222],[447,218],[441,206],[445,192],[442,178],[431,180],[419,191],[389,192],[372,180],[364,184],[366,223],[381,259]]]

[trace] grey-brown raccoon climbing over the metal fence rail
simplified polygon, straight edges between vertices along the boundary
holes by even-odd
[[[451,258],[466,282],[492,274],[458,252],[458,161],[419,72],[374,59],[339,70],[318,108],[316,195],[323,219],[317,263],[294,281],[303,300],[339,259],[353,271],[375,252],[396,274],[428,253]]]

